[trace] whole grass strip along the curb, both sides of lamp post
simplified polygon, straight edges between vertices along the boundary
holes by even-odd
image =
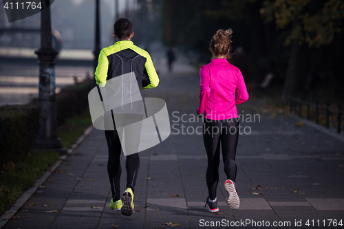
[[[67,119],[65,124],[58,127],[58,137],[61,138],[63,146],[69,149],[91,124],[92,120],[88,110]],[[8,210],[25,190],[32,187],[36,179],[39,179],[56,162],[59,155],[57,152],[29,153],[28,157],[2,166],[0,173],[0,215]]]

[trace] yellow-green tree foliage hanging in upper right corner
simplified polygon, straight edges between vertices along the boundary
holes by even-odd
[[[344,1],[266,0],[260,12],[266,22],[275,21],[279,29],[292,25],[286,45],[298,39],[319,47],[330,44],[334,34],[341,32]]]

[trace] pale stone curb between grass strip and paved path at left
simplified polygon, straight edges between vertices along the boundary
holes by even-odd
[[[89,133],[91,133],[91,131],[93,129],[94,129],[93,126],[88,127],[84,131],[83,135],[81,135],[78,138],[78,140],[76,140],[76,142],[74,144],[72,144],[70,149],[67,150],[67,155],[61,155],[60,157],[58,157],[57,162],[55,162],[55,164],[48,171],[45,171],[45,173],[43,173],[43,175],[39,179],[36,179],[36,182],[34,182],[34,186],[32,186],[31,188],[26,190],[25,193],[23,193],[23,195],[21,195],[21,197],[19,197],[17,199],[17,201],[14,202],[12,207],[10,209],[6,210],[6,212],[4,212],[3,215],[1,215],[1,217],[0,217],[0,229],[3,226],[5,226],[5,224],[8,222],[8,220],[11,219],[11,217],[14,214],[17,213],[19,208],[21,208],[21,206],[23,206],[23,204],[25,204],[25,202],[28,201],[28,199],[31,197],[31,195],[34,192],[36,192],[36,190],[39,188],[39,186],[41,186],[41,184],[43,184],[43,182],[45,182],[47,177],[50,177],[50,175],[52,175],[52,173],[54,173],[55,169],[58,166],[60,166],[60,164],[68,157],[68,155],[70,155],[80,145],[80,143],[83,142],[83,140],[85,140],[87,135],[89,135]]]

